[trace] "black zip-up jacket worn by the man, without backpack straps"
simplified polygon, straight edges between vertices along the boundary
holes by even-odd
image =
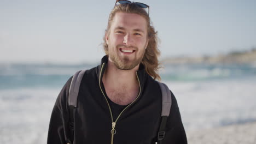
[[[87,70],[83,76],[77,108],[74,109],[74,141],[80,143],[110,143],[113,113],[115,121],[126,106],[113,103],[104,90],[102,76],[108,57],[101,65]],[[137,71],[140,92],[137,100],[121,113],[115,125],[114,144],[155,143],[161,121],[162,97],[158,82],[146,73],[141,64]],[[48,144],[67,143],[69,136],[68,91],[72,77],[62,88],[51,114]],[[104,96],[106,95],[106,97]],[[107,101],[110,106],[107,104]],[[185,144],[187,137],[182,124],[177,101],[172,94],[172,106],[165,128],[162,144]]]

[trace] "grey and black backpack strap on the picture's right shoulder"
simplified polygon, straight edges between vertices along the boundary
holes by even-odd
[[[165,83],[158,82],[162,92],[162,113],[161,113],[161,124],[158,131],[158,142],[160,143],[165,137],[165,125],[167,118],[170,114],[172,105],[172,96],[170,89],[165,85]]]

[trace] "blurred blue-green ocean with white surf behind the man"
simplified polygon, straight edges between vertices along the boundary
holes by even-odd
[[[96,64],[0,63],[0,140],[46,143],[57,95],[75,71]],[[164,65],[186,131],[256,121],[256,64]]]

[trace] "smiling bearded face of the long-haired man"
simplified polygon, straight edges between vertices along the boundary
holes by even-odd
[[[116,13],[106,42],[110,62],[118,69],[135,68],[148,45],[146,19],[138,14]]]

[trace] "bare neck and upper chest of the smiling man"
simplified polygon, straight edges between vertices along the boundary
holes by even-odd
[[[136,76],[138,67],[139,65],[131,70],[121,70],[108,61],[102,82],[110,100],[119,105],[127,105],[136,99],[139,92]]]

